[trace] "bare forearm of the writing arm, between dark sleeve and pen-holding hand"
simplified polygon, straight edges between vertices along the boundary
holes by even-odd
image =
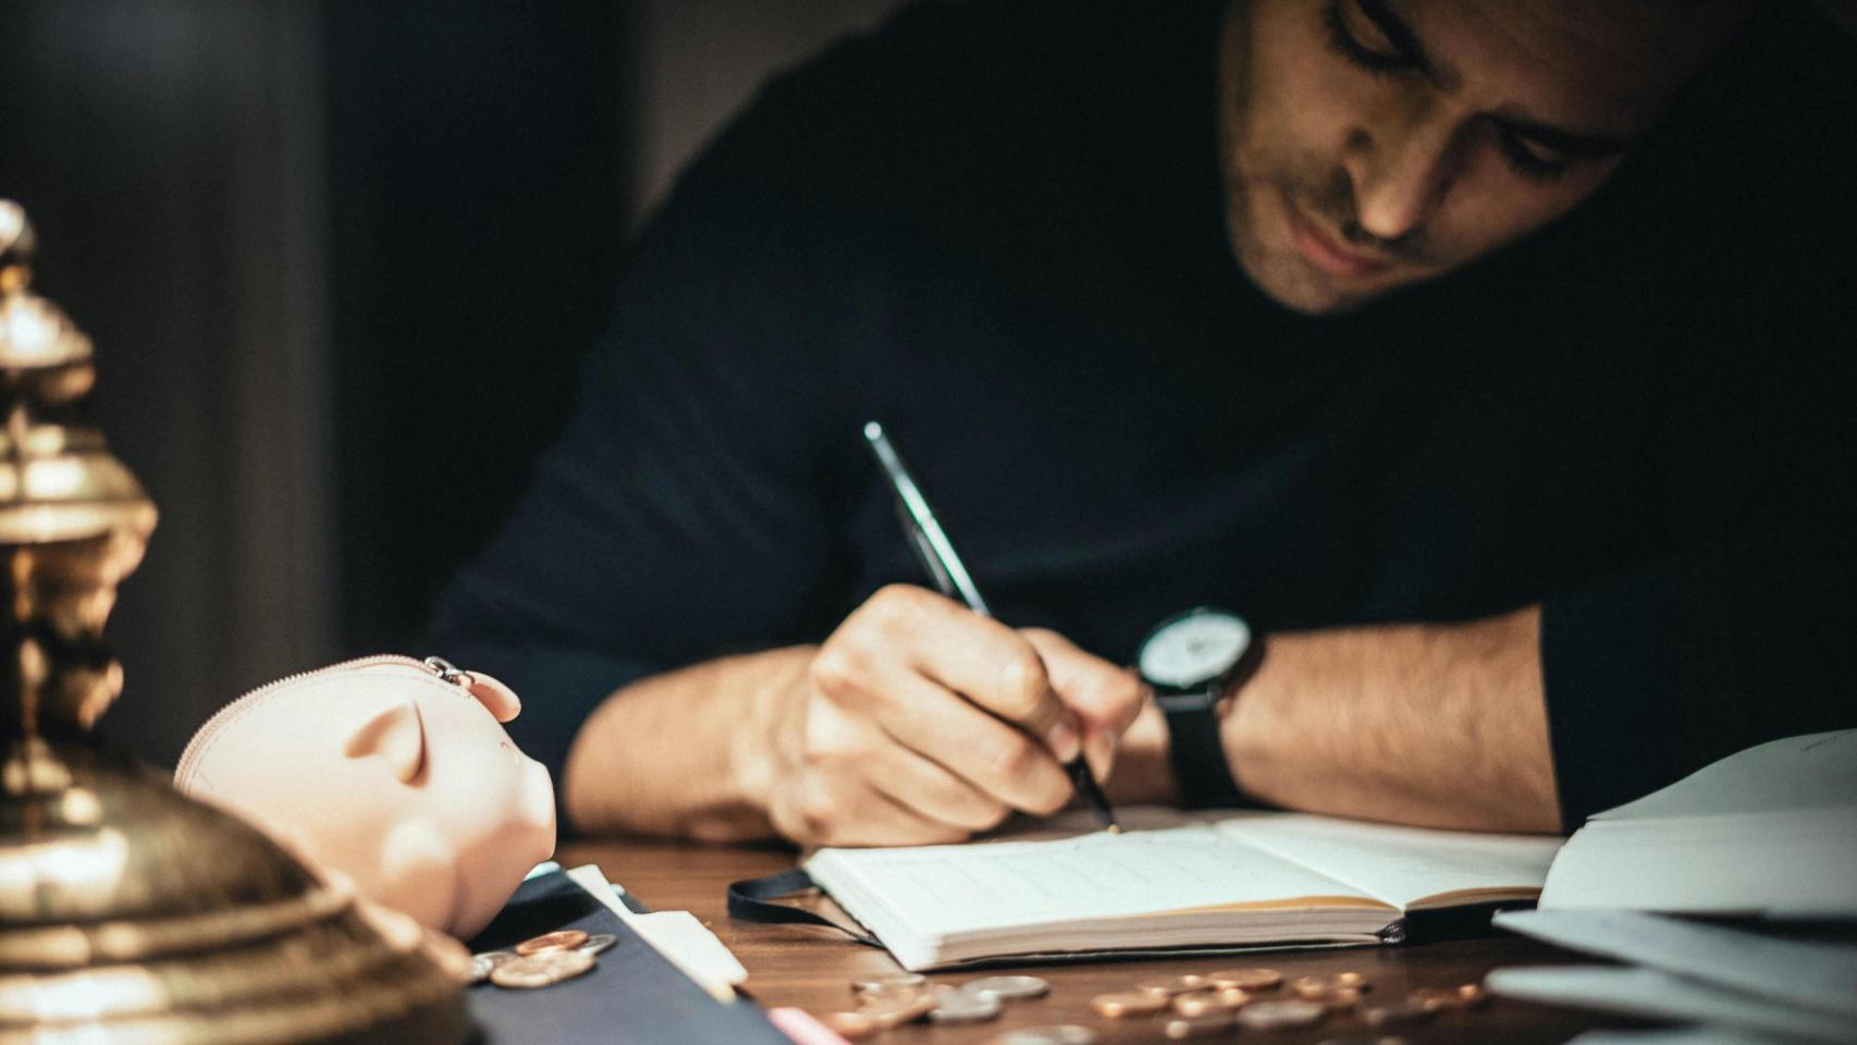
[[[773,837],[761,780],[774,757],[767,718],[813,652],[724,657],[607,696],[568,752],[568,817],[583,832]]]

